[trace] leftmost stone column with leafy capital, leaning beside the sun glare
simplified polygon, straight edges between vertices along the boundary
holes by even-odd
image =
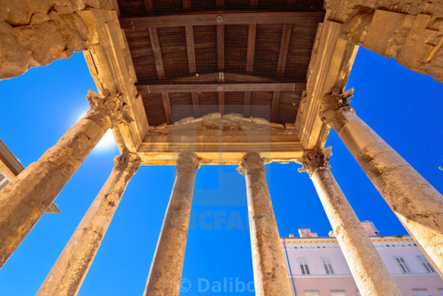
[[[89,112],[0,192],[0,268],[113,124],[127,122],[120,96],[89,91]]]

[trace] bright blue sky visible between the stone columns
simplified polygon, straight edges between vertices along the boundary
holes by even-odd
[[[363,121],[443,191],[443,85],[375,53],[361,49],[347,88]],[[0,138],[23,165],[58,141],[89,105],[96,90],[82,54],[37,67],[0,82]],[[97,91],[97,90],[96,90]],[[375,222],[382,235],[406,234],[334,131],[335,175],[361,220]],[[34,295],[83,214],[97,195],[119,152],[115,144],[95,149],[59,194],[61,214],[45,214],[0,269],[0,295]],[[330,224],[307,174],[298,164],[267,165],[268,186],[280,235],[311,228],[327,236]],[[235,166],[198,170],[183,267],[190,284],[181,295],[206,292],[216,282],[253,281],[245,178]],[[175,167],[141,167],[128,185],[80,295],[141,295],[175,177]],[[204,218],[204,222],[198,219]],[[198,293],[198,285],[200,292]],[[210,289],[209,289],[210,290]],[[253,292],[236,294],[253,295]]]

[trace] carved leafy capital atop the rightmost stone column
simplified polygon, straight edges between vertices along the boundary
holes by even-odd
[[[352,101],[349,100],[353,97],[354,89],[340,92],[337,88],[334,88],[330,95],[323,97],[322,106],[320,107],[320,118],[322,121],[330,123],[337,118],[337,111],[342,108],[347,108],[354,113],[354,109],[351,108]]]

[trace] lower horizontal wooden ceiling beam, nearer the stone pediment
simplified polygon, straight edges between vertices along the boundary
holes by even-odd
[[[142,85],[142,84],[138,84]],[[306,82],[293,83],[241,83],[241,82],[216,82],[216,83],[174,83],[159,81],[145,84],[148,92],[228,92],[228,91],[301,91],[306,90]]]

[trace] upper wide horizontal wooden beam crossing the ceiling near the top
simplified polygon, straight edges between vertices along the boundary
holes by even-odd
[[[208,25],[307,24],[323,19],[324,12],[205,12],[120,19],[126,29]]]

